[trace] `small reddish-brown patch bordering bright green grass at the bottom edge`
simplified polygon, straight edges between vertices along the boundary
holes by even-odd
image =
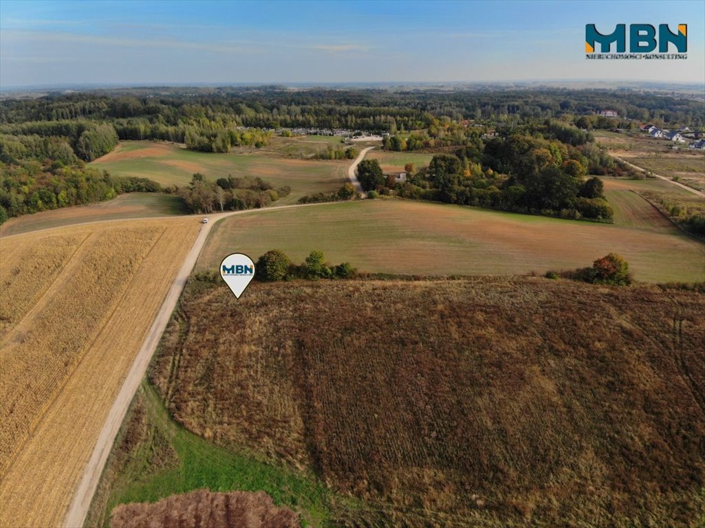
[[[299,516],[259,491],[211,493],[201,489],[157,503],[120,505],[111,528],[299,528]]]

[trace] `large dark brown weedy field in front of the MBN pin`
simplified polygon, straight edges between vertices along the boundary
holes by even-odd
[[[696,526],[704,333],[705,294],[655,286],[195,281],[149,379],[190,431],[365,501],[339,525]]]

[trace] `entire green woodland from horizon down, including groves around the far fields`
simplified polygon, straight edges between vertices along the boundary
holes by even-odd
[[[601,115],[605,109],[618,117]],[[266,147],[275,135],[384,135],[382,148],[426,152],[434,169],[408,173],[403,185],[366,190],[569,219],[610,221],[592,175],[636,177],[596,145],[593,130],[636,130],[644,122],[700,128],[701,102],[628,90],[381,90],[284,87],[135,89],[51,93],[0,102],[0,223],[13,216],[111,199],[123,192],[173,192],[194,212],[262,207],[216,185],[162,188],[87,164],[122,140],[168,141],[202,152]],[[344,140],[341,140],[345,142]],[[348,150],[350,152],[348,152]],[[350,159],[353,147],[319,159]],[[194,189],[202,196],[196,196]],[[256,190],[256,189],[255,189]],[[223,192],[231,197],[223,200]],[[250,192],[248,190],[248,192]],[[270,193],[271,194],[271,193]],[[286,191],[279,192],[286,194]],[[304,201],[338,199],[340,195]],[[204,204],[201,206],[201,204]],[[210,205],[209,205],[210,204]],[[227,205],[226,205],[227,204]],[[692,231],[699,219],[687,219]]]

